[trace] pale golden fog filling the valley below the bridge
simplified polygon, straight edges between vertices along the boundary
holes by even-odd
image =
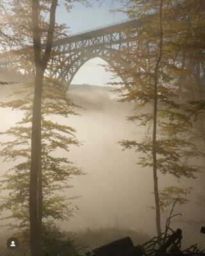
[[[1,100],[4,100],[12,87],[4,89]],[[1,88],[3,92],[3,87]],[[82,168],[86,175],[73,177],[67,197],[81,196],[73,200],[79,211],[69,222],[59,222],[61,228],[74,231],[101,226],[127,227],[156,234],[153,178],[151,169],[143,169],[138,162],[138,155],[133,150],[122,151],[119,145],[122,139],[142,139],[144,128],[126,121],[133,104],[120,103],[110,92],[110,87],[72,85],[69,95],[74,103],[85,109],[76,109],[81,116],[58,118],[56,122],[66,123],[77,130],[76,136],[82,143],[80,147],[70,147],[70,152],[57,152]],[[1,131],[15,125],[22,118],[22,113],[10,109],[0,109]],[[201,164],[202,163],[201,161]],[[10,165],[3,163],[1,173]],[[176,206],[175,212],[183,214],[182,219],[200,219],[203,212],[195,205],[197,194],[204,194],[204,174],[198,174],[200,179],[179,181],[172,176],[159,174],[160,189],[167,185],[195,187],[190,197],[190,203]],[[163,217],[163,224],[165,217]],[[172,223],[173,228],[181,227],[186,237],[204,239],[199,234],[199,228],[191,228],[183,222]],[[198,229],[197,229],[198,228]],[[193,237],[194,234],[194,237]]]

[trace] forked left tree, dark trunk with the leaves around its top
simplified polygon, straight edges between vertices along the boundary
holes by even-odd
[[[65,0],[67,10],[72,8],[72,0]],[[79,0],[79,2],[86,2]],[[41,151],[41,99],[42,86],[51,58],[53,39],[59,37],[65,26],[56,26],[55,15],[58,0],[52,1],[17,1],[10,3],[10,13],[6,21],[10,23],[13,37],[19,40],[19,46],[24,48],[24,63],[31,61],[35,68],[35,89],[33,99],[33,114],[31,127],[31,172],[29,182],[29,217],[30,217],[30,242],[31,256],[40,255],[40,237],[42,226],[42,151]],[[49,21],[45,19],[49,14]],[[57,30],[58,28],[59,30]],[[60,32],[59,32],[60,31]],[[58,33],[59,32],[59,33]],[[44,49],[42,44],[45,44]],[[32,44],[32,46],[31,46]],[[26,55],[28,55],[26,57]],[[26,63],[27,64],[27,63]],[[24,66],[24,64],[22,64]],[[19,68],[19,67],[18,67]],[[31,72],[29,72],[31,75]]]

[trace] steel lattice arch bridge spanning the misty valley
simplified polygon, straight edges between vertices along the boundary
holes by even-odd
[[[77,33],[53,42],[53,57],[48,64],[46,75],[60,78],[70,84],[81,66],[90,59],[100,57],[116,70],[128,68],[126,62],[120,59],[120,53],[136,41],[140,21],[131,19],[110,24],[94,30]],[[130,33],[130,30],[133,32]],[[127,33],[129,31],[129,33]],[[44,49],[44,45],[42,47]],[[31,47],[19,51],[8,51],[0,55],[0,67],[11,69],[19,67],[25,75],[34,72]],[[122,54],[121,54],[122,55]],[[126,77],[119,74],[123,81]]]

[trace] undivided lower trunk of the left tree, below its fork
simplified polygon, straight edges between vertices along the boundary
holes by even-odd
[[[37,68],[35,77],[35,94],[33,100],[32,133],[31,133],[31,172],[29,187],[29,217],[31,256],[40,255],[40,230],[38,223],[38,167],[41,152],[41,98],[44,71]]]

